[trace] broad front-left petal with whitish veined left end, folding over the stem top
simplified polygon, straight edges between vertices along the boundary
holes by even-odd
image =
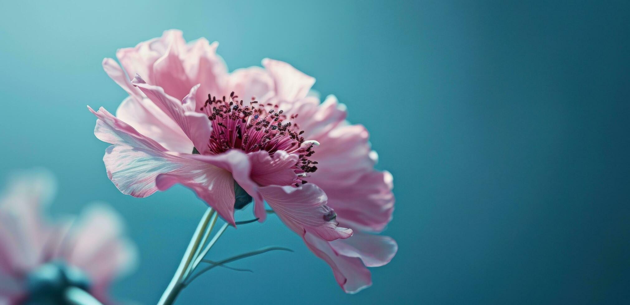
[[[166,152],[105,109],[98,112],[89,109],[99,118],[96,136],[115,144],[106,149],[103,160],[110,180],[123,194],[146,197],[181,183],[234,225],[236,180],[255,199],[256,206],[262,206],[258,213],[265,213],[258,186],[249,179],[251,167],[244,153],[237,150],[221,155]]]

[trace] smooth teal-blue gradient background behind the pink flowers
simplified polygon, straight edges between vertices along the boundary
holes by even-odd
[[[179,28],[219,41],[231,70],[285,60],[347,104],[394,175],[385,233],[400,249],[347,295],[272,216],[227,231],[209,258],[295,253],[232,264],[253,274],[214,269],[178,304],[627,303],[630,5],[502,2],[3,3],[2,179],[52,170],[54,214],[110,202],[140,249],[113,294],[155,303],[205,207],[183,187],[118,192],[86,105],[114,111],[126,95],[103,57]]]

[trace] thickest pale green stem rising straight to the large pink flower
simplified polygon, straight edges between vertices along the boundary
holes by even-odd
[[[188,270],[190,263],[194,262],[197,259],[197,255],[199,253],[199,247],[203,246],[202,241],[205,239],[205,232],[210,225],[210,219],[216,213],[212,208],[208,208],[203,217],[199,221],[199,225],[197,225],[197,229],[190,239],[190,243],[188,244],[188,248],[186,248],[186,252],[184,256],[181,258],[180,266],[177,268],[175,275],[173,275],[173,279],[166,287],[164,294],[159,299],[158,305],[171,305],[175,301],[176,297],[180,293],[181,289],[184,287],[184,280],[188,276],[188,272],[192,272],[193,270]],[[215,219],[216,220],[216,219]],[[212,222],[214,225],[214,221]],[[212,230],[212,229],[210,229]]]

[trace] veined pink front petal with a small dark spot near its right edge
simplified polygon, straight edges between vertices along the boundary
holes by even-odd
[[[301,236],[311,232],[328,241],[352,236],[352,230],[337,226],[335,212],[326,206],[326,194],[314,184],[265,186],[260,192],[285,225]]]

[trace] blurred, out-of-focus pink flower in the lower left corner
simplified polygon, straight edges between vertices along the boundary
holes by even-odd
[[[0,304],[53,304],[70,287],[108,303],[113,278],[134,263],[135,248],[106,206],[77,219],[44,219],[53,192],[51,177],[37,172],[15,177],[0,196]]]

